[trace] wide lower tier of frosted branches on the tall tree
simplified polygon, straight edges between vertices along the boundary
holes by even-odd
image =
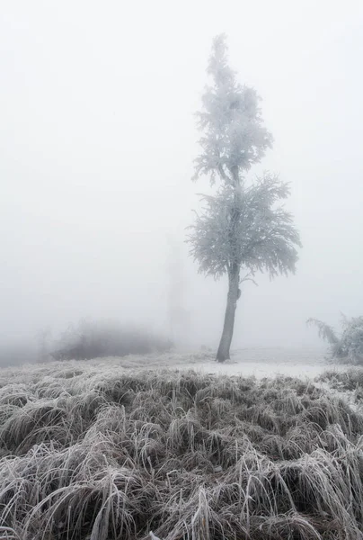
[[[204,209],[188,238],[199,271],[215,278],[234,265],[247,268],[251,275],[294,272],[300,239],[291,214],[278,204],[287,196],[288,185],[275,175],[241,187],[237,196],[230,186],[215,196],[203,195]]]

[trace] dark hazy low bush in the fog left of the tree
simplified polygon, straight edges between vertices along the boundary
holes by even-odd
[[[70,325],[50,352],[56,360],[89,360],[101,356],[147,355],[164,352],[172,343],[145,329],[117,323],[81,321]]]

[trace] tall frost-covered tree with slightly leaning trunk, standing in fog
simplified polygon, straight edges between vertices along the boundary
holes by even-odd
[[[279,203],[288,197],[288,184],[270,174],[248,181],[247,173],[272,146],[272,137],[262,123],[259,96],[236,81],[226,53],[226,38],[218,36],[208,63],[212,85],[197,113],[203,137],[193,179],[208,175],[211,185],[218,181],[217,193],[202,195],[204,206],[188,238],[200,272],[228,276],[219,362],[229,358],[239,285],[257,271],[271,277],[294,272],[300,246],[292,216]]]

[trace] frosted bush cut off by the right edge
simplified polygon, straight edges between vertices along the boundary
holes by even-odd
[[[363,365],[363,317],[343,317],[341,336],[322,320],[308,319],[306,322],[317,327],[319,336],[329,343],[333,358]]]

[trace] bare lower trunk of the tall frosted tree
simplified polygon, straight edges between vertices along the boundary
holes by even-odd
[[[239,298],[239,268],[235,268],[228,275],[229,287],[226,304],[225,324],[223,326],[222,337],[220,338],[219,347],[217,350],[217,362],[225,362],[229,359],[229,349],[231,347],[232,338],[235,328],[235,308]]]

